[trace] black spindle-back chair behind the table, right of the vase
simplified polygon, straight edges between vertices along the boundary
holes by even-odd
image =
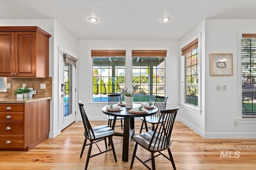
[[[142,129],[146,129],[146,132],[148,131],[148,129],[151,129],[152,131],[154,131],[155,125],[158,123],[158,121],[160,119],[160,111],[166,109],[167,99],[168,99],[168,97],[166,97],[166,96],[156,96],[154,106],[156,106],[158,108],[158,112],[152,116],[140,118],[142,120],[142,124],[140,127],[140,133],[142,132]],[[146,125],[147,122],[151,123],[152,126],[148,127]],[[144,124],[145,124],[145,127],[143,127]]]

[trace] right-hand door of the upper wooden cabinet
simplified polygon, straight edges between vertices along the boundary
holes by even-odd
[[[15,72],[16,76],[36,76],[36,32],[15,32]],[[40,64],[40,63],[38,63]]]

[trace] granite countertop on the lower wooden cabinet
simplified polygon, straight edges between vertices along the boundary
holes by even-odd
[[[16,98],[16,97],[0,97],[0,104],[4,103],[30,103],[30,102],[37,102],[40,100],[48,100],[52,99],[52,97],[28,97],[28,98]]]

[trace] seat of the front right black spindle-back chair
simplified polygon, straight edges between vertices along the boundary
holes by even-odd
[[[151,138],[153,136],[154,131],[148,131],[146,133],[142,133],[139,135],[134,135],[132,137],[132,139],[138,143],[140,146],[142,146],[143,148],[147,149],[147,150],[152,150],[152,151],[161,151],[161,150],[165,150],[168,149],[171,145],[172,145],[172,141],[169,141],[167,143],[163,143],[165,141],[165,137],[162,137],[161,139],[157,139],[157,134],[155,135],[152,144],[149,146]],[[156,132],[157,133],[157,132]],[[154,146],[154,144],[156,143],[156,146]]]

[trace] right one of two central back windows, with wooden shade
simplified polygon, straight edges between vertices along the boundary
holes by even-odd
[[[132,51],[132,88],[134,102],[155,101],[165,96],[166,50]]]

